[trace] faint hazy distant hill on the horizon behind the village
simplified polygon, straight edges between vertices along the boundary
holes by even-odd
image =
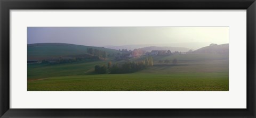
[[[158,47],[158,46],[149,46],[149,47],[143,47],[143,48],[139,48],[141,50],[145,50],[148,52],[151,52],[151,50],[170,50],[171,52],[188,52],[188,48],[184,48],[184,47]]]

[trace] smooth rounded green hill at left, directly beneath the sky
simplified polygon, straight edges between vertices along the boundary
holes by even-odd
[[[28,44],[28,60],[44,60],[52,57],[81,55],[87,53],[87,48],[105,51],[107,54],[118,53],[118,50],[103,47],[92,47],[62,43]]]

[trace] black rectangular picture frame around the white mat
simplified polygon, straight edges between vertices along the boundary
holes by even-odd
[[[1,0],[1,117],[255,117],[255,0]],[[246,109],[13,109],[10,108],[10,10],[186,9],[246,10]],[[189,19],[188,19],[189,20]],[[235,103],[234,103],[235,104]]]

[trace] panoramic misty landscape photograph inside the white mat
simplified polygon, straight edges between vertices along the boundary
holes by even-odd
[[[228,91],[229,27],[27,27],[28,91]]]

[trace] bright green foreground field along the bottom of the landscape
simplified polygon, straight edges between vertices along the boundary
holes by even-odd
[[[228,90],[227,73],[98,74],[28,81],[28,90]]]

